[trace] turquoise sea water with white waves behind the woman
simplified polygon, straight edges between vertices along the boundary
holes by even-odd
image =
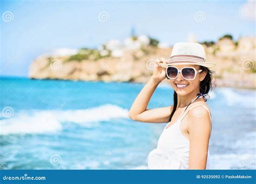
[[[143,88],[104,83],[1,78],[0,169],[146,169],[165,123],[128,117]],[[149,108],[172,104],[160,85]],[[216,88],[212,169],[255,169],[255,90]]]

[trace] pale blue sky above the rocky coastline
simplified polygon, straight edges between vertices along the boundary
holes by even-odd
[[[255,36],[255,1],[1,1],[0,76],[28,76],[37,56],[57,48],[97,48],[146,34],[173,45],[194,34]]]

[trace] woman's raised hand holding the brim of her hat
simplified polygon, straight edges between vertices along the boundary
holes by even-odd
[[[166,68],[161,67],[159,63],[167,63],[167,62],[164,58],[161,58],[160,60],[159,59],[156,60],[156,67],[153,70],[153,75],[151,76],[151,78],[153,79],[153,81],[158,83],[163,81],[166,77]]]

